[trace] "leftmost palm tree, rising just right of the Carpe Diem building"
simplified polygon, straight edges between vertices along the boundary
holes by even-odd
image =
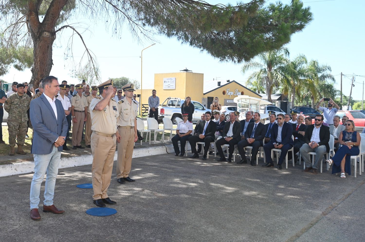
[[[284,68],[287,64],[289,50],[282,47],[276,51],[268,51],[258,55],[261,62],[251,60],[242,67],[242,72],[255,69],[246,81],[246,85],[257,87],[257,90],[265,89],[268,101],[272,102],[271,94],[274,88],[278,88],[284,82]]]

